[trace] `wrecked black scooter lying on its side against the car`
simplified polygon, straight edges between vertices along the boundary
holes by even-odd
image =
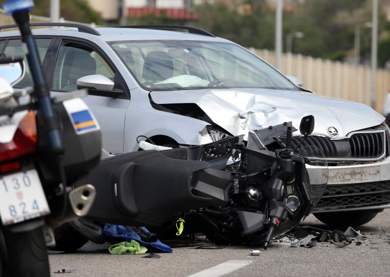
[[[302,119],[302,143],[313,126],[312,116]],[[261,243],[266,249],[273,237],[309,215],[328,179],[318,148],[300,147],[299,154],[291,149],[293,131],[285,122],[251,132],[245,144],[231,137],[104,158],[81,180],[97,189],[90,212],[70,225],[95,243],[108,241],[104,226],[111,223],[148,227],[162,240],[176,231],[203,233],[215,243]],[[55,250],[81,247],[61,232],[58,236]]]

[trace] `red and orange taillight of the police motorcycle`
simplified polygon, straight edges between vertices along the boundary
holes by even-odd
[[[0,143],[0,161],[10,160],[35,152],[37,149],[37,122],[34,111],[20,121],[12,141]]]

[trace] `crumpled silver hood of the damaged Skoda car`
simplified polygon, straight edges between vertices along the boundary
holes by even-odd
[[[157,104],[195,103],[233,135],[247,135],[248,130],[286,121],[292,121],[292,125],[299,129],[301,119],[308,115],[314,116],[313,134],[330,136],[328,128],[333,127],[338,131],[337,138],[384,121],[383,116],[365,104],[309,92],[207,89],[158,91],[151,92],[151,97]]]

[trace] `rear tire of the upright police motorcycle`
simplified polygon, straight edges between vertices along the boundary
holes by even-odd
[[[11,276],[50,277],[46,242],[40,227],[28,232],[4,232],[4,238],[9,257],[7,270]],[[8,276],[2,273],[3,277]]]

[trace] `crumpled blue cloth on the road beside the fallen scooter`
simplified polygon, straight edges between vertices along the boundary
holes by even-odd
[[[148,229],[145,227],[141,227],[145,232],[149,232]],[[160,250],[161,253],[172,253],[172,248],[168,245],[162,243],[160,240],[157,239],[157,241],[152,242],[146,242],[141,239],[141,237],[138,236],[137,233],[133,232],[132,230],[129,230],[125,226],[122,225],[114,225],[114,224],[106,224],[103,228],[103,233],[111,238],[112,243],[119,243],[120,241],[126,240],[135,240],[140,245],[145,246],[148,248],[148,246],[155,247],[156,249]]]

